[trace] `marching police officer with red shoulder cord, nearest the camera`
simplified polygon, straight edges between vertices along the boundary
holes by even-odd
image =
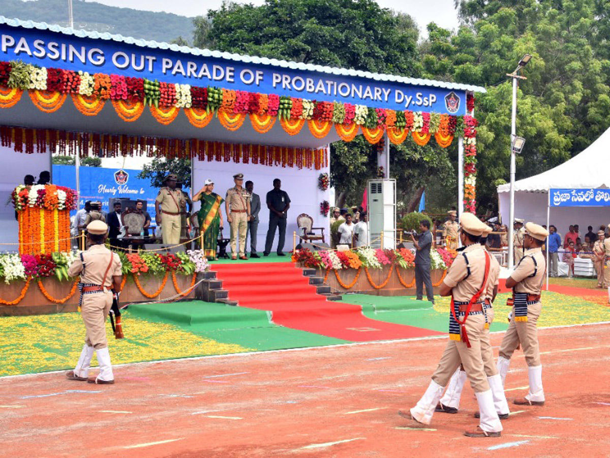
[[[493,394],[481,357],[481,339],[485,332],[483,304],[490,280],[486,266],[491,269],[491,256],[479,244],[479,238],[487,225],[472,213],[464,213],[460,224],[459,237],[465,249],[453,261],[440,286],[441,296],[452,296],[450,340],[422,399],[410,412],[398,413],[418,423],[430,424],[443,389],[462,363],[475,391],[481,417],[477,429],[464,434],[469,437],[498,437],[502,424],[493,405]],[[469,313],[466,314],[468,309]]]

